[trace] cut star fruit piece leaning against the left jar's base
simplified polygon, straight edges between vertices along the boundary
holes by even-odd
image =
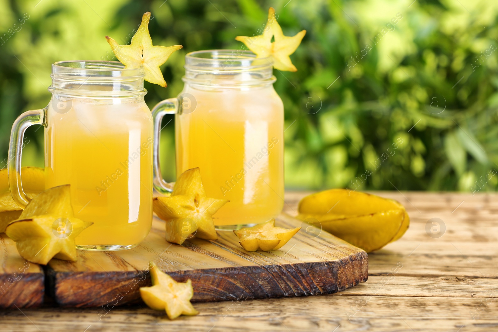
[[[52,257],[76,261],[74,238],[91,224],[74,216],[71,187],[63,185],[35,196],[5,233],[24,259],[45,265]]]

